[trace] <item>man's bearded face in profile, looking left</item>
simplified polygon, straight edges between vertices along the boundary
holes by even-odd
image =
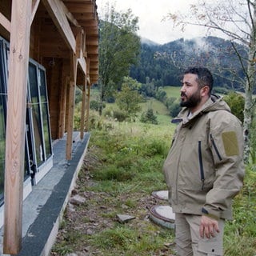
[[[201,102],[201,90],[198,87],[197,74],[185,74],[182,79],[180,106],[194,108]]]

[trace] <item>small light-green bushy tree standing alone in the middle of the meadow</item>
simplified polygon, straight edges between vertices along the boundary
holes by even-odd
[[[142,96],[138,94],[140,84],[132,78],[125,78],[122,83],[122,90],[116,94],[116,103],[120,110],[124,111],[129,118],[136,117],[136,114],[142,109],[139,103],[142,102]]]

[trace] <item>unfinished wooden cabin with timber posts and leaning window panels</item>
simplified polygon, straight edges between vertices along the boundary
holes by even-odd
[[[1,0],[0,61],[0,225],[4,253],[18,254],[22,200],[54,165],[53,142],[66,136],[72,158],[76,89],[81,139],[88,130],[90,86],[98,82],[96,1]]]

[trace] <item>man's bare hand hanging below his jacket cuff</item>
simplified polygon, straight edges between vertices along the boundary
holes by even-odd
[[[214,218],[209,218],[202,215],[201,225],[200,225],[201,238],[204,238],[205,235],[206,235],[206,238],[210,238],[210,236],[214,237],[215,232],[219,232],[218,221]]]

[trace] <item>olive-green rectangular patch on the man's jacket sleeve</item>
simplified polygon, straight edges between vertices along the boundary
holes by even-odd
[[[232,155],[239,154],[238,138],[237,138],[237,134],[234,131],[223,132],[222,142],[224,145],[226,156],[230,157]]]

